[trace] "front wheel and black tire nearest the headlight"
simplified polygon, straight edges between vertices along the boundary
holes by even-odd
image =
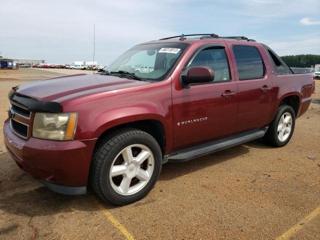
[[[127,157],[129,152],[133,159]],[[89,180],[93,190],[103,200],[124,205],[143,198],[152,189],[161,166],[162,154],[157,141],[144,131],[123,128],[97,143]],[[110,177],[112,171],[114,176]]]

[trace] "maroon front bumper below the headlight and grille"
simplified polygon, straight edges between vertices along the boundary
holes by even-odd
[[[3,125],[4,144],[17,165],[53,191],[84,194],[96,139],[52,141],[15,135],[9,120]]]

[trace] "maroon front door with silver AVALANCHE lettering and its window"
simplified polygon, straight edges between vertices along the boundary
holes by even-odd
[[[172,89],[173,150],[230,135],[236,123],[237,84],[230,71],[228,50],[221,44],[206,45],[194,54],[183,72],[193,66],[208,66],[214,71],[214,80],[183,88],[176,79]]]

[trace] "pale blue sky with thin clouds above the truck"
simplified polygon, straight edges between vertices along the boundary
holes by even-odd
[[[320,0],[1,0],[0,55],[109,64],[181,33],[253,38],[278,55],[320,54]]]

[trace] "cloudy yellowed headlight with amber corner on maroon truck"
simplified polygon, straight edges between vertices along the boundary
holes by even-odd
[[[32,136],[49,140],[72,140],[77,121],[76,112],[36,112]]]

